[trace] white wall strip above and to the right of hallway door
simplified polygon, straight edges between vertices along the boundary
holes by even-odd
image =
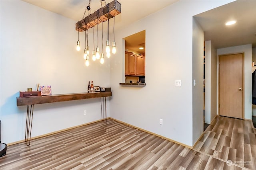
[[[252,45],[217,49],[217,55],[244,53],[244,118],[252,119]]]

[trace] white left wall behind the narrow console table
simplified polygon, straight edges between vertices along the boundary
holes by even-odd
[[[20,0],[1,0],[0,12],[0,119],[4,143],[24,139],[26,106],[16,106],[19,91],[36,90],[40,83],[51,85],[52,94],[87,92],[91,80],[94,86],[110,86],[108,60],[104,65],[84,64],[84,33],[80,33],[81,51],[76,51],[76,21]],[[89,32],[92,50],[92,30]],[[109,101],[107,107],[109,117]],[[32,137],[99,119],[99,98],[35,105]]]

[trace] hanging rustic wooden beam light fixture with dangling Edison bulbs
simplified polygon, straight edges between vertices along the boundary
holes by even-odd
[[[85,49],[84,49],[84,59],[86,60],[86,66],[89,66],[88,29],[90,29],[92,27],[94,28],[94,26],[97,25],[97,31],[98,31],[98,24],[103,23],[104,21],[108,21],[108,23],[109,23],[109,19],[111,19],[111,18],[114,18],[114,28],[115,28],[115,16],[121,13],[121,4],[117,0],[113,0],[112,2],[110,2],[108,4],[106,4],[105,0],[100,0],[101,8],[91,14],[90,13],[90,11],[91,11],[90,2],[91,2],[91,0],[89,0],[89,4],[88,4],[88,6],[86,6],[86,9],[84,11],[84,16],[86,14],[86,10],[88,11],[88,16],[85,18],[83,16],[82,20],[80,20],[76,23],[76,31],[78,31],[78,41],[77,41],[77,47],[76,47],[77,51],[80,51],[79,32],[86,31],[86,33],[85,33]],[[106,6],[102,7],[102,2],[104,2],[106,4]],[[103,26],[102,26],[102,29],[103,29]],[[108,24],[108,30],[109,30],[109,24]],[[114,34],[114,32],[113,32],[113,34]],[[98,32],[97,32],[97,35],[98,35]],[[109,35],[109,32],[108,32],[108,35]],[[94,33],[93,33],[93,37],[94,37]],[[114,37],[115,37],[115,35],[114,35]],[[86,45],[86,43],[87,43],[87,45]],[[93,44],[94,44],[94,40],[93,40]],[[106,49],[107,57],[109,58],[110,57],[109,37],[107,39],[106,48],[107,48]],[[96,48],[96,55],[97,55],[97,52],[99,53],[99,47]],[[115,38],[114,38],[114,42],[113,42],[112,53],[113,54],[116,53]],[[93,55],[92,56],[93,61],[95,61],[96,59],[100,59],[99,56],[96,57],[96,59],[95,59],[95,51],[94,50],[92,51],[92,55]],[[102,30],[102,54],[101,54],[100,63],[102,63],[102,64],[104,63],[103,30]]]

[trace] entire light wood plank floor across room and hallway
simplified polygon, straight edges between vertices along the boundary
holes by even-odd
[[[228,129],[218,130],[215,125],[210,125],[208,131],[206,129],[204,137],[196,146],[198,151],[108,119],[107,123],[100,121],[34,139],[29,147],[25,143],[11,145],[7,150],[6,156],[0,158],[0,169],[255,169],[255,164],[253,164],[253,168],[252,166],[241,166],[234,163],[227,164],[228,159],[234,160],[233,158],[235,157],[239,158],[238,160],[242,160],[243,156],[245,157],[244,160],[253,158],[255,163],[256,148],[255,134],[252,133],[246,123],[238,123],[243,120],[231,120],[233,122],[231,125],[236,123],[238,125],[234,130],[230,130],[229,128],[232,128],[232,126],[230,124],[226,125],[224,119],[226,118],[218,118],[215,124]],[[221,123],[218,123],[218,121]],[[224,131],[226,135],[232,134],[232,131],[234,131],[234,138],[239,139],[239,141],[229,142],[228,139],[232,141],[232,136],[224,136],[224,139],[222,139],[221,135]],[[246,140],[244,143],[239,144],[239,150],[234,151],[234,146],[240,143],[240,138],[242,138],[238,133],[242,133],[242,131],[248,132],[248,135],[244,135]],[[221,142],[218,144],[213,139],[218,139]],[[208,140],[214,141],[214,143],[208,144],[211,143]],[[232,149],[229,149],[228,152],[230,157],[227,156],[229,155],[226,151],[227,143],[232,146],[230,147]],[[214,145],[216,147],[213,147]],[[245,149],[244,154],[242,154],[242,146]],[[214,151],[210,152],[210,148],[218,149],[216,151],[220,153],[213,154]],[[247,154],[249,151],[250,154]]]

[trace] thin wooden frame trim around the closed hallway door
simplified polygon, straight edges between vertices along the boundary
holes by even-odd
[[[242,97],[242,109],[243,109],[243,112],[242,112],[242,119],[244,119],[244,52],[239,52],[239,53],[227,53],[227,54],[221,54],[221,55],[218,55],[218,60],[217,60],[217,65],[218,65],[218,68],[217,68],[217,70],[218,70],[218,73],[217,73],[217,75],[218,75],[218,102],[217,102],[217,112],[218,112],[218,114],[217,115],[219,115],[220,116],[220,56],[224,56],[224,55],[234,55],[234,54],[242,54],[242,76],[243,76],[243,82],[242,82],[242,84],[243,84],[243,87],[242,87],[242,89],[243,89],[243,97]],[[238,118],[237,118],[238,119]]]

